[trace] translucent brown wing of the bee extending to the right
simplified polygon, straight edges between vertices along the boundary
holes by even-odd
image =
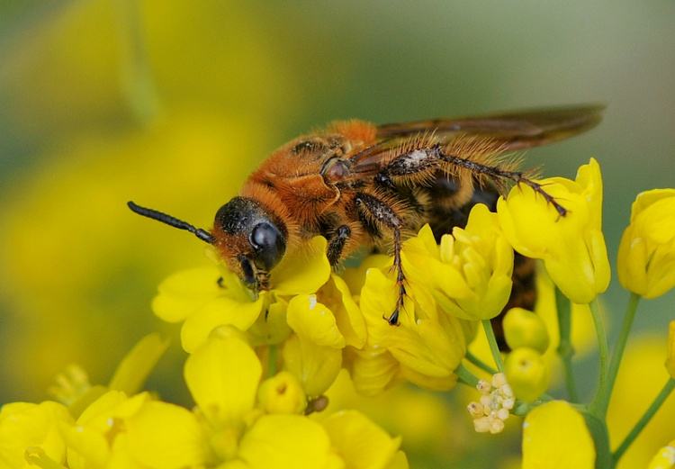
[[[589,131],[602,119],[605,106],[585,104],[577,106],[531,109],[511,113],[498,113],[479,117],[433,119],[381,125],[377,128],[374,145],[358,151],[350,159],[352,170],[363,175],[382,167],[390,150],[401,142],[433,135],[438,143],[456,137],[484,138],[500,151],[530,149],[568,139]]]

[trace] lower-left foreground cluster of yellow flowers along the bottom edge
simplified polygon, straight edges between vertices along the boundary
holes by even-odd
[[[293,374],[261,382],[259,358],[229,326],[214,330],[185,362],[193,410],[138,392],[165,349],[157,335],[144,338],[108,386],[90,386],[81,373],[62,378],[59,394],[69,405],[5,405],[0,467],[408,467],[401,438],[363,414],[345,410],[311,419]]]

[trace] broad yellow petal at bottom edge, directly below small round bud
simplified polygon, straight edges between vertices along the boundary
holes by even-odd
[[[345,467],[331,451],[326,430],[299,415],[266,415],[257,419],[241,438],[238,457],[251,469]]]

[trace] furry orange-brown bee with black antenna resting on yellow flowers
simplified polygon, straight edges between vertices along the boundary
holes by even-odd
[[[211,244],[254,290],[267,289],[284,255],[316,235],[328,240],[334,268],[359,249],[389,249],[398,301],[384,319],[396,325],[406,295],[402,241],[423,223],[437,238],[464,227],[474,204],[494,210],[510,185],[528,185],[564,217],[563,205],[518,169],[514,152],[588,131],[602,111],[582,105],[386,125],[332,122],[276,149],[220,207],[211,230],[128,204]],[[531,265],[517,257],[507,307],[534,302]]]

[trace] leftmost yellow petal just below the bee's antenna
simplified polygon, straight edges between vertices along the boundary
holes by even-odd
[[[152,311],[162,320],[179,322],[222,294],[215,266],[177,272],[159,284]]]

